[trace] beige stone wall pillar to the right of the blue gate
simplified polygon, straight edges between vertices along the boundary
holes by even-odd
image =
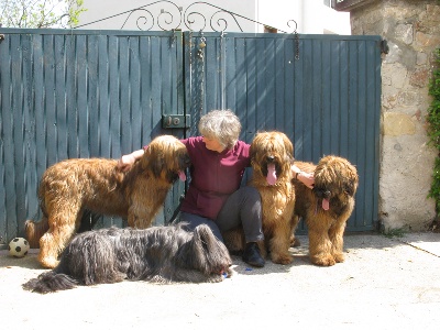
[[[435,220],[427,198],[436,150],[428,146],[429,79],[440,47],[437,0],[359,1],[352,34],[378,34],[389,53],[382,65],[380,220],[385,230],[424,230]]]

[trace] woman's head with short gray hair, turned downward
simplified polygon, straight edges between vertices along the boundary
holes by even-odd
[[[212,110],[200,118],[199,132],[216,139],[224,148],[232,148],[239,141],[241,123],[231,110]]]

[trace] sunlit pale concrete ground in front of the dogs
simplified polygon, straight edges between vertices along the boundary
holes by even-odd
[[[123,282],[40,295],[21,285],[44,272],[37,251],[0,252],[0,327],[11,329],[439,329],[440,234],[346,235],[345,262],[295,260],[250,268],[234,257],[217,284]]]

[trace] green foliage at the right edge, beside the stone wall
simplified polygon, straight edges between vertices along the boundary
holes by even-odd
[[[428,197],[436,200],[437,213],[440,211],[440,48],[436,52],[436,68],[429,82],[429,95],[432,102],[428,108],[427,123],[429,144],[437,148],[438,155],[433,166],[432,183]]]

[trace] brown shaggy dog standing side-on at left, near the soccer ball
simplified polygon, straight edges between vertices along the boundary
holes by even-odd
[[[38,189],[43,219],[28,220],[28,240],[40,240],[40,263],[48,268],[81,226],[85,213],[128,219],[130,227],[148,228],[173,183],[189,166],[185,145],[172,135],[154,139],[127,173],[118,161],[67,160],[43,174]]]

